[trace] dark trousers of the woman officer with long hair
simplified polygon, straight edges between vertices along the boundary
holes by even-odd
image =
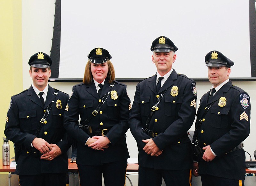
[[[81,186],[101,186],[102,174],[105,186],[124,186],[127,159],[100,166],[77,165],[77,167]]]

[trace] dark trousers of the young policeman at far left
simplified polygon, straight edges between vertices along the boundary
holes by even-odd
[[[66,186],[67,174],[19,175],[20,186]]]

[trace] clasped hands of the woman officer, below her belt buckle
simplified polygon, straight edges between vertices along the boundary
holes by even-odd
[[[110,141],[106,136],[92,136],[91,138],[88,139],[86,145],[88,145],[88,147],[91,147],[94,150],[104,151],[104,149],[108,148],[109,143]]]

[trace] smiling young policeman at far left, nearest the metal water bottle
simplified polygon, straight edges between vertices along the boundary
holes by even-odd
[[[28,64],[33,84],[11,97],[4,130],[15,143],[15,174],[21,186],[65,186],[72,144],[63,127],[69,96],[48,85],[50,56],[38,52]]]

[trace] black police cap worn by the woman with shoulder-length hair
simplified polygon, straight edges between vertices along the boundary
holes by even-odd
[[[112,57],[110,56],[108,50],[103,48],[95,48],[92,49],[90,54],[87,56],[89,61],[95,64],[105,63],[110,60]]]

